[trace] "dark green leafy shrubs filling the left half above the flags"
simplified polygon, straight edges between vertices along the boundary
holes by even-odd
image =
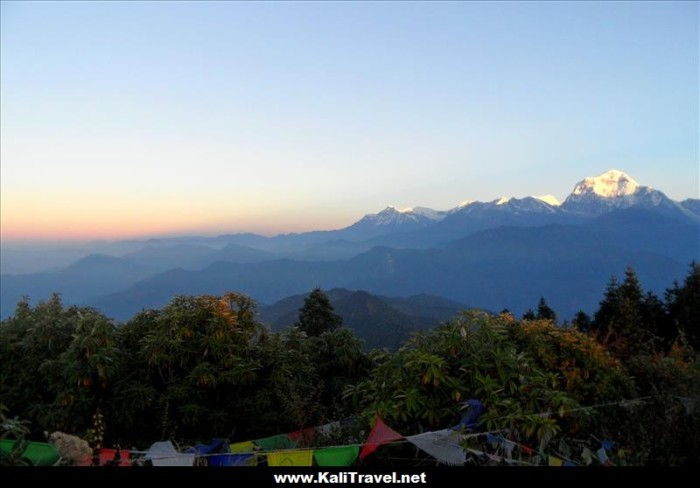
[[[349,413],[342,390],[369,368],[351,331],[271,333],[235,293],[176,297],[121,327],[58,296],[23,301],[0,326],[0,361],[0,396],[32,435],[61,430],[96,445],[104,428],[105,444],[141,446],[333,420]]]

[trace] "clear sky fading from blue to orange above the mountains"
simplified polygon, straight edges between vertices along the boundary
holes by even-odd
[[[696,2],[2,2],[0,239],[698,198]]]

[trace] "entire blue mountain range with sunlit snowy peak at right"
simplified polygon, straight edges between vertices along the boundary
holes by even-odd
[[[700,258],[700,200],[676,202],[618,170],[554,197],[466,201],[449,210],[387,207],[329,231],[183,236],[96,245],[58,270],[0,276],[0,314],[58,291],[125,320],[176,294],[237,290],[273,303],[320,286],[437,295],[522,313],[540,296],[561,315],[591,310],[633,266],[662,291]],[[107,251],[107,252],[105,252]]]

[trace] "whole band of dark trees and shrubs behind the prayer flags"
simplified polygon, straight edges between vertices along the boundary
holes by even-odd
[[[485,408],[476,431],[542,451],[568,446],[578,459],[581,442],[612,439],[615,464],[699,459],[696,264],[661,298],[629,269],[594,316],[570,327],[554,323],[544,300],[524,319],[467,310],[395,352],[364,352],[320,290],[281,332],[258,323],[255,307],[237,293],[179,296],[116,327],[57,296],[21,302],[0,324],[1,403],[35,440],[61,431],[145,448],[346,417],[365,432],[379,416],[417,434],[457,424],[471,399]]]

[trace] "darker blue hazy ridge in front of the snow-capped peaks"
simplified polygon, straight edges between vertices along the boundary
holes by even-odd
[[[624,214],[619,218],[625,218]],[[688,254],[697,259],[697,226],[678,226],[668,217],[652,215],[637,225],[630,222],[621,231],[625,236],[658,235],[665,232],[663,229],[672,228],[674,232],[664,236],[667,243],[662,246],[673,252],[668,256],[653,249],[639,249],[633,238],[624,242],[608,232],[605,225],[608,224],[603,222],[601,231],[595,230],[595,222],[580,226],[499,227],[440,248],[375,247],[351,259],[333,262],[283,259],[252,264],[217,263],[200,271],[174,270],[156,275],[94,305],[126,318],[143,307],[162,306],[181,293],[221,293],[231,289],[271,302],[320,286],[393,296],[426,293],[483,308],[507,307],[516,313],[544,295],[557,311],[568,316],[579,308],[593,308],[609,277],[621,274],[628,265],[637,269],[646,286],[662,291],[683,275]]]

